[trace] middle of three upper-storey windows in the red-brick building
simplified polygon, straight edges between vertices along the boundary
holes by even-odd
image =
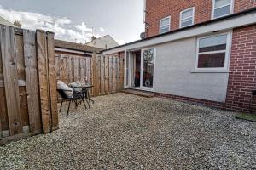
[[[179,27],[183,28],[194,24],[195,8],[188,8],[180,13]]]

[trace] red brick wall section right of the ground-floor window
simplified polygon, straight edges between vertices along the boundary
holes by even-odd
[[[256,25],[233,31],[226,106],[249,111],[252,90],[256,90]]]

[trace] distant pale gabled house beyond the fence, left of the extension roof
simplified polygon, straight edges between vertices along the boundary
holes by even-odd
[[[96,47],[96,48],[103,48],[103,49],[108,49],[108,48],[115,48],[119,46],[119,43],[116,42],[113,37],[110,35],[106,35],[103,37],[92,37],[90,42],[85,43],[88,46],[91,47]]]

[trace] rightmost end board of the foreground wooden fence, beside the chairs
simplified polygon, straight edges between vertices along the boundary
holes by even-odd
[[[49,60],[49,94],[50,94],[50,112],[51,129],[59,128],[58,106],[57,106],[57,80],[55,72],[55,39],[54,33],[47,32],[47,52]],[[65,66],[67,68],[67,66]],[[66,74],[67,77],[67,74]],[[67,79],[67,78],[66,78]]]

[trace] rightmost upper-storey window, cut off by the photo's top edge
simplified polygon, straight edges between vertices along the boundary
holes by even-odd
[[[233,12],[233,0],[213,0],[212,18],[219,18]]]

